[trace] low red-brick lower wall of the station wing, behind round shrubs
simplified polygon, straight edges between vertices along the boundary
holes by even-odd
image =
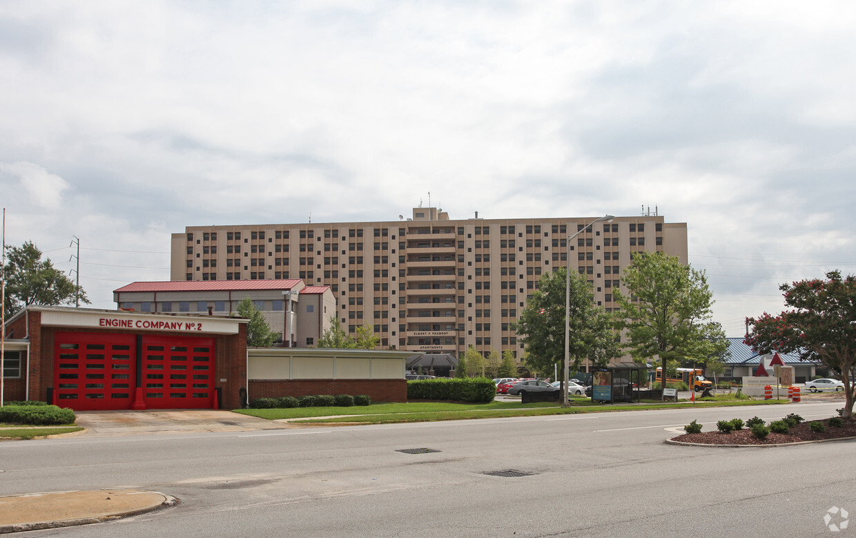
[[[407,402],[407,380],[250,380],[251,401],[307,394],[368,394],[372,402]]]

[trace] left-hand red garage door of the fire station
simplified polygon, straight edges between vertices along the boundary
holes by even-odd
[[[136,386],[133,334],[57,332],[54,402],[76,410],[130,409]]]

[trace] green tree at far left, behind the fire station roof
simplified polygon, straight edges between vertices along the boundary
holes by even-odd
[[[7,317],[31,304],[90,304],[82,287],[74,284],[50,259],[42,260],[42,251],[25,242],[21,247],[7,247],[5,266]]]

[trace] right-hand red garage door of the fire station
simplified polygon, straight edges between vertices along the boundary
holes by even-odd
[[[146,409],[214,406],[214,338],[142,337]]]

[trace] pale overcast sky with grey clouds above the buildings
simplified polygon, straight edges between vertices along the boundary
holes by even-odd
[[[6,242],[92,306],[187,225],[686,222],[716,320],[856,272],[856,3],[0,1]]]

